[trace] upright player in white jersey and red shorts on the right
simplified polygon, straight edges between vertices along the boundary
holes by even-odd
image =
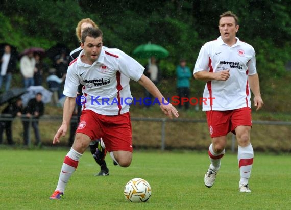
[[[236,37],[237,17],[230,11],[223,13],[219,20],[221,36],[202,46],[194,67],[194,77],[206,81],[203,97],[211,98],[203,104],[206,111],[212,144],[208,154],[210,166],[205,174],[205,186],[214,184],[225,153],[226,136],[236,135],[238,143],[238,166],[240,171],[239,191],[251,192],[251,175],[254,151],[250,140],[251,92],[254,106],[263,106],[259,78],[256,71],[254,48]]]

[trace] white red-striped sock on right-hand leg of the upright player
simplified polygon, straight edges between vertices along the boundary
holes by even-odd
[[[237,160],[240,172],[240,184],[248,184],[249,178],[251,176],[253,159],[254,150],[252,144],[249,144],[246,147],[238,146]]]

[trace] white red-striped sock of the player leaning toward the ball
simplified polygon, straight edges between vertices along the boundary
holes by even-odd
[[[70,151],[67,153],[64,159],[64,163],[62,165],[56,191],[58,190],[62,193],[65,191],[66,184],[72,173],[76,171],[81,156],[82,154],[75,151],[73,148],[71,148]]]

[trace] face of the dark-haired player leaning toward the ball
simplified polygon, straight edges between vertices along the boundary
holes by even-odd
[[[89,64],[93,64],[99,57],[103,46],[102,37],[89,37],[85,38],[85,42],[81,43],[82,49],[85,51],[85,57]]]

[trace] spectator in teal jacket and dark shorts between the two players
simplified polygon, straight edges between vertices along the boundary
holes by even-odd
[[[186,66],[186,60],[181,59],[180,65],[176,68],[176,75],[177,75],[177,94],[180,99],[180,103],[178,108],[182,108],[182,98],[189,98],[190,93],[190,78],[191,78],[191,71],[188,66]],[[189,109],[189,102],[184,102],[185,110]]]

